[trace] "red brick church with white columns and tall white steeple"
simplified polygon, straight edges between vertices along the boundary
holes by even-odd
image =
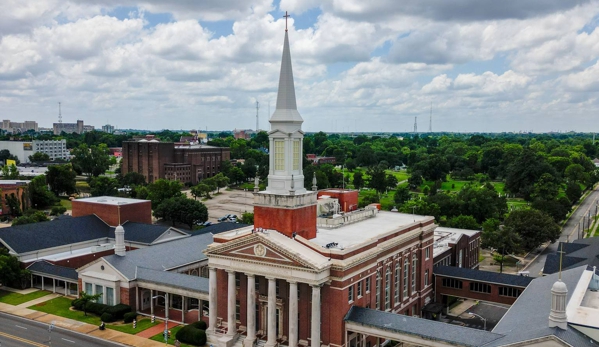
[[[254,226],[215,235],[204,251],[209,338],[223,347],[342,346],[352,306],[420,316],[432,300],[434,218],[322,204],[315,179],[304,187],[302,123],[286,30]]]

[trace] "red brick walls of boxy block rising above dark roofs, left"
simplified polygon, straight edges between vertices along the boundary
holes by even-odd
[[[121,223],[129,221],[152,224],[152,203],[149,200],[119,206],[121,207]],[[73,217],[88,216],[91,214],[97,215],[108,225],[119,225],[118,206],[73,200]]]

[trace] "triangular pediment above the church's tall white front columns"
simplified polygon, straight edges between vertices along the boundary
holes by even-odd
[[[297,254],[284,249],[281,245],[268,242],[268,240],[258,235],[251,235],[227,242],[215,249],[209,250],[207,255],[209,257],[217,255],[219,257],[271,263],[279,266],[315,269],[312,264]]]

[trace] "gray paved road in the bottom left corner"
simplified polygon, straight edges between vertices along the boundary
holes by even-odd
[[[70,330],[0,312],[0,347],[122,347],[121,344],[100,340]]]

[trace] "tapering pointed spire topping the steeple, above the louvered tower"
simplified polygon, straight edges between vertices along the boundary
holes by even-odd
[[[285,32],[283,43],[283,57],[281,59],[281,73],[279,75],[279,91],[277,94],[277,107],[270,122],[301,123],[304,120],[297,111],[295,101],[295,86],[293,83],[293,69],[291,67],[291,53],[289,51],[289,37]]]

